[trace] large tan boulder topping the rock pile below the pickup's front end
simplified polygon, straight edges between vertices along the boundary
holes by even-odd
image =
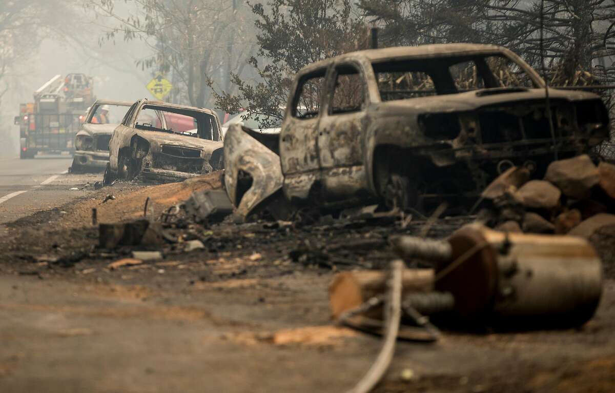
[[[598,184],[598,168],[588,155],[581,155],[550,163],[544,179],[557,185],[568,197],[583,199]]]

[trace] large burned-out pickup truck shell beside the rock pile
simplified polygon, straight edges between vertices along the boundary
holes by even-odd
[[[504,47],[375,49],[304,67],[279,140],[229,128],[225,182],[244,216],[280,188],[319,206],[471,206],[510,166],[542,177],[556,153],[588,152],[608,135],[600,97],[549,89],[547,101],[538,73]]]

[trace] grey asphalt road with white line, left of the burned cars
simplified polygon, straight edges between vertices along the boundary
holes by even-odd
[[[81,192],[70,188],[102,177],[68,174],[72,162],[67,155],[0,158],[0,226],[81,197]]]

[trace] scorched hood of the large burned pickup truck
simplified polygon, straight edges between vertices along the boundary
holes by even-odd
[[[582,91],[568,91],[549,89],[550,100],[591,100],[599,99],[598,95]],[[442,113],[453,111],[472,111],[481,107],[498,105],[499,103],[514,103],[531,100],[546,99],[544,89],[528,89],[527,91],[495,92],[489,94],[489,90],[462,92],[458,94],[432,95],[405,100],[393,100],[378,104],[379,111],[385,111],[389,115],[407,114],[408,110],[419,113]]]

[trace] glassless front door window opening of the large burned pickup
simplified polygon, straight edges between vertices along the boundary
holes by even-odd
[[[359,70],[352,65],[343,65],[336,68],[336,75],[330,113],[337,115],[363,110],[365,88]]]

